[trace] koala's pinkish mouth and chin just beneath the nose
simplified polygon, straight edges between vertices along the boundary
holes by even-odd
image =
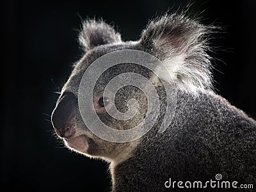
[[[64,139],[67,147],[77,150],[79,152],[84,152],[88,148],[88,142],[84,134],[71,139]]]

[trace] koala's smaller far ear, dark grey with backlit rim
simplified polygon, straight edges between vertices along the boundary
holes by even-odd
[[[93,47],[99,45],[122,42],[120,34],[116,33],[111,26],[102,20],[84,21],[78,39],[79,44],[82,45],[84,51],[89,51],[90,49],[93,49]]]

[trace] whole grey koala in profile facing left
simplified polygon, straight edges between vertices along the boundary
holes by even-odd
[[[234,181],[234,188],[256,184],[256,122],[214,92],[211,57],[207,53],[211,33],[211,26],[178,13],[151,20],[140,40],[129,42],[122,41],[120,34],[102,20],[83,22],[78,39],[84,54],[61,90],[52,112],[52,125],[70,150],[108,161],[112,191],[178,190],[179,185],[189,188],[186,181],[193,187],[198,180],[202,182],[198,188],[206,189],[210,189],[211,180],[215,180],[215,189],[221,189],[217,181],[222,180],[229,181],[230,188]],[[100,138],[84,122],[79,87],[86,86],[81,80],[94,61],[122,50],[146,52],[161,61],[168,73],[157,64],[153,65],[156,75],[143,65],[124,62],[102,74],[92,74],[99,78],[92,90],[92,103],[85,103],[93,107],[86,113],[95,111],[102,123],[117,131],[140,124],[147,114],[149,99],[141,88],[128,85],[122,86],[110,102],[103,92],[111,79],[128,72],[140,74],[159,95],[159,115],[154,125],[140,138],[114,142]],[[175,87],[177,100],[170,124],[159,132],[168,108],[169,93],[164,82]],[[113,107],[127,113],[131,99],[138,104],[132,118],[120,120],[108,113],[107,109]],[[96,128],[101,129],[98,125]]]

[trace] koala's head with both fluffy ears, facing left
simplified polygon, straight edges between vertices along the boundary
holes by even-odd
[[[167,75],[166,72],[159,71],[157,65],[154,66],[156,71],[158,70],[156,74],[143,65],[129,62],[118,63],[102,74],[95,71],[95,76],[99,75],[99,78],[93,87],[92,103],[88,103],[92,108],[88,108],[86,113],[95,111],[100,121],[112,129],[132,129],[147,115],[147,95],[141,88],[128,85],[118,89],[113,99],[108,93],[103,94],[111,79],[125,73],[135,73],[147,78],[152,82],[161,100],[161,115],[164,113],[166,98],[164,81],[172,82],[179,90],[194,94],[196,90],[211,89],[211,64],[205,52],[208,49],[205,36],[209,31],[210,28],[184,15],[164,15],[148,24],[140,40],[123,42],[120,34],[108,24],[95,20],[85,21],[79,34],[84,56],[74,65],[72,74],[63,86],[56,108],[52,112],[52,124],[56,134],[63,139],[68,148],[76,152],[90,157],[102,157],[109,161],[121,161],[124,158],[123,154],[129,154],[140,139],[116,143],[99,138],[88,129],[78,104],[79,86],[84,72],[101,56],[127,49],[147,52],[163,62],[168,71]],[[139,84],[140,87],[144,86],[143,82]],[[82,86],[86,86],[86,82]],[[108,109],[111,108],[116,108],[118,113],[127,113],[130,110],[129,101],[132,99],[136,100],[137,108],[132,118],[120,120],[109,115]]]

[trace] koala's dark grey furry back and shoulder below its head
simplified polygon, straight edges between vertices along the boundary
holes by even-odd
[[[255,120],[210,91],[178,95],[170,127],[163,133],[152,129],[132,156],[113,168],[113,191],[166,191],[170,178],[205,182],[217,174],[230,182],[255,183]]]

